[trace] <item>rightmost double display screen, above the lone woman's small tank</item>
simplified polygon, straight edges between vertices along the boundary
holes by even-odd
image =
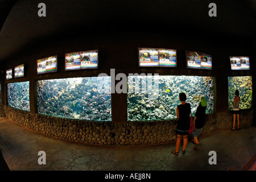
[[[232,70],[249,70],[249,57],[245,56],[230,56],[230,65]]]

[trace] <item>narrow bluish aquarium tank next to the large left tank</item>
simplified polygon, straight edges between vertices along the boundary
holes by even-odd
[[[30,82],[7,84],[7,101],[11,107],[30,111]]]

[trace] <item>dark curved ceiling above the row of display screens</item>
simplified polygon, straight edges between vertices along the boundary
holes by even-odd
[[[40,2],[46,4],[46,17],[38,16]],[[208,15],[211,2],[217,17]],[[182,32],[255,42],[255,15],[255,0],[0,0],[0,61],[49,38],[106,31]]]

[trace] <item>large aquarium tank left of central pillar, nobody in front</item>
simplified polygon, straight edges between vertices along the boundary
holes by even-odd
[[[102,85],[105,89],[102,92]],[[110,77],[79,77],[37,82],[38,112],[64,118],[111,121]]]

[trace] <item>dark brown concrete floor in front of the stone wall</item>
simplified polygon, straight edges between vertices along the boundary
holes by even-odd
[[[160,146],[90,146],[36,133],[7,118],[0,118],[0,151],[11,171],[170,171],[241,170],[256,153],[256,128],[222,130],[190,141],[186,154],[171,154],[175,143]],[[46,164],[39,165],[39,151]],[[217,164],[210,165],[209,151],[216,151]]]

